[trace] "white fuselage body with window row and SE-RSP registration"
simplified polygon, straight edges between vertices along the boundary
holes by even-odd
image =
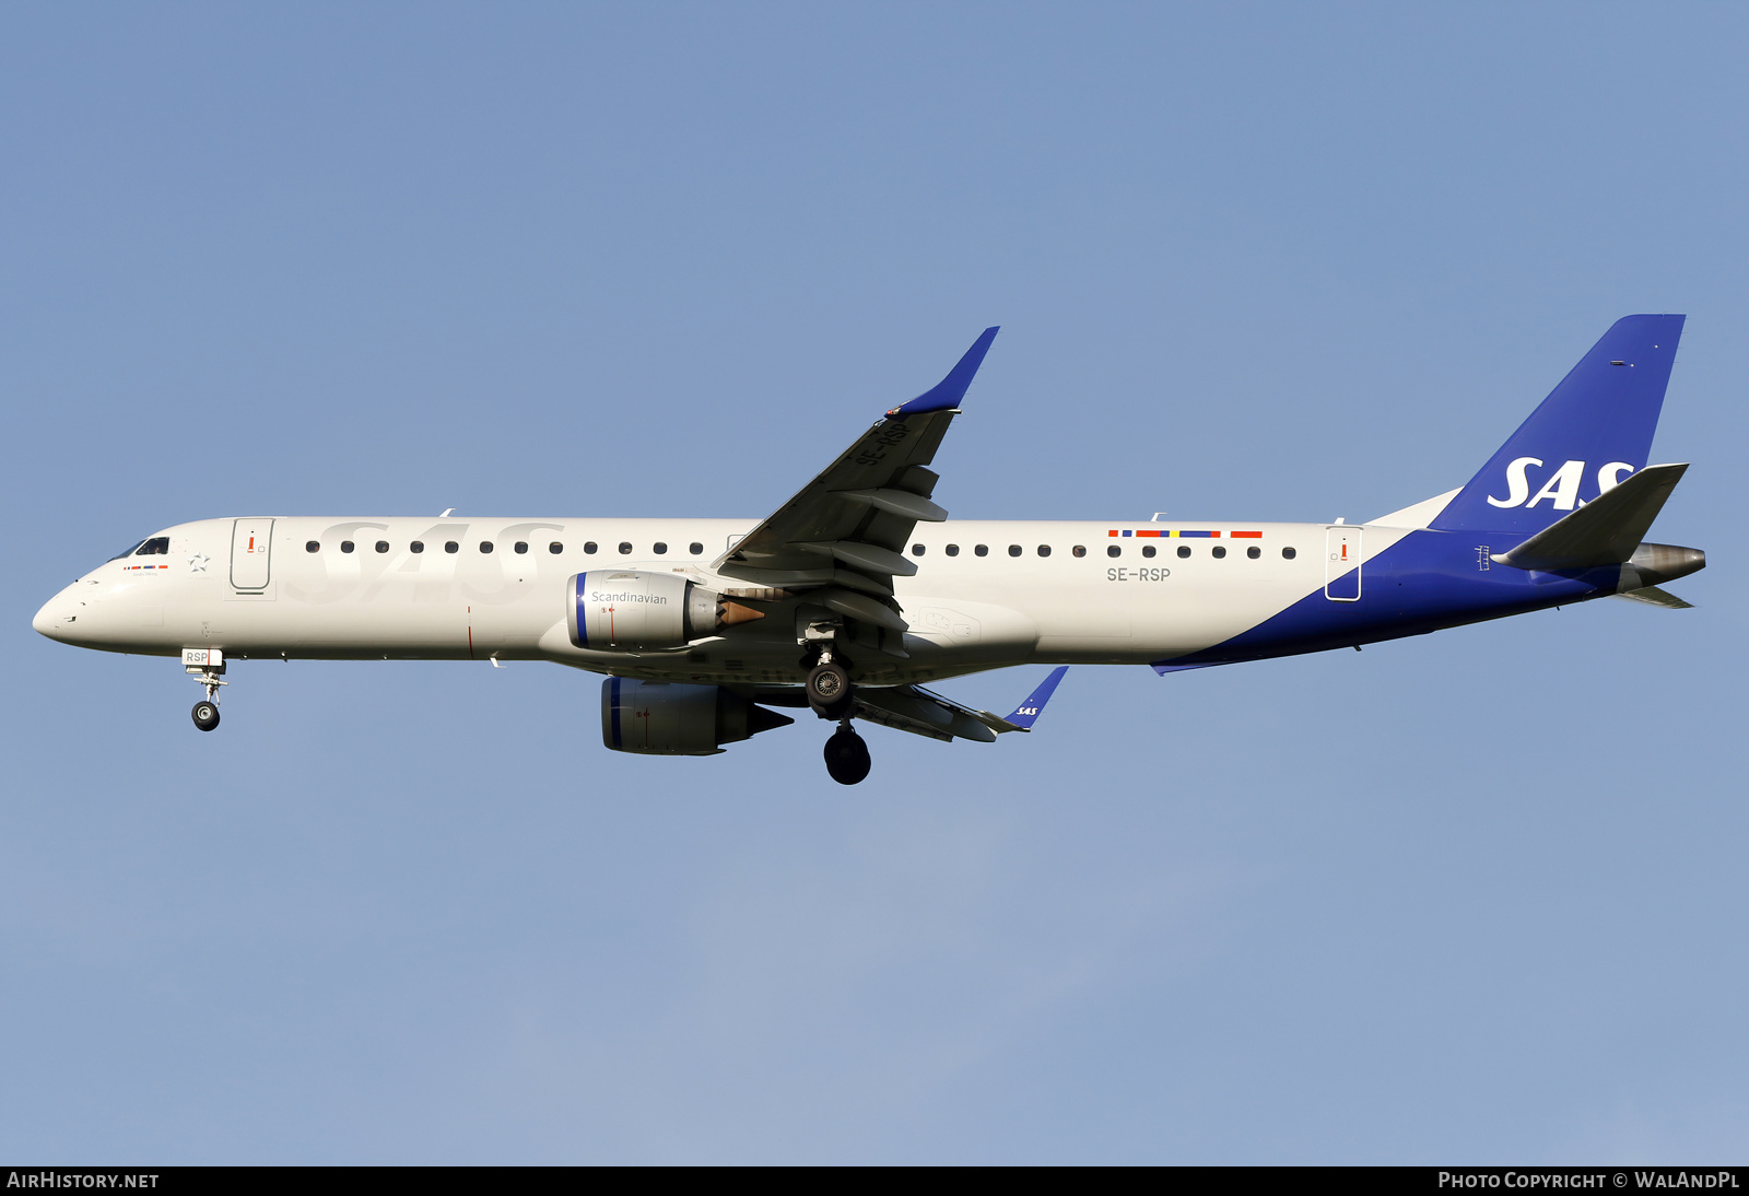
[[[159,532],[166,553],[117,558],[80,577],[35,626],[68,643],[154,656],[217,647],[233,659],[547,659],[658,680],[796,684],[806,670],[794,610],[782,605],[672,652],[586,650],[567,633],[567,584],[581,572],[677,572],[712,589],[745,586],[710,567],[756,525],[205,519]],[[918,572],[895,581],[908,659],[857,654],[857,678],[881,685],[1025,663],[1140,664],[1207,649],[1317,593],[1329,532],[1307,523],[918,525],[906,546]],[[1340,535],[1355,558],[1340,561],[1347,572],[1362,549],[1373,556],[1406,530]]]

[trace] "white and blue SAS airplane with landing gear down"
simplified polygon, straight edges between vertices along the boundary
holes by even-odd
[[[1618,320],[1464,486],[1368,523],[965,521],[929,469],[997,329],[763,521],[203,519],[51,598],[33,626],[180,657],[219,726],[233,661],[554,661],[602,682],[602,741],[715,755],[812,712],[826,768],[854,722],[990,743],[1070,664],[1175,673],[1424,635],[1662,586],[1705,553],[1644,542],[1688,465],[1648,465],[1681,315]],[[927,689],[1056,666],[1007,715]]]

